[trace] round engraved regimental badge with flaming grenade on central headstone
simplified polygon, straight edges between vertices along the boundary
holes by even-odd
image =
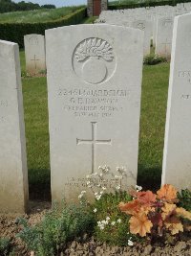
[[[87,38],[74,49],[74,73],[87,83],[108,81],[116,69],[112,46],[104,39]]]

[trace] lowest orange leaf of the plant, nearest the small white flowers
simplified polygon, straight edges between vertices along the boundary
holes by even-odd
[[[132,216],[129,222],[132,234],[139,234],[140,237],[145,237],[146,233],[151,233],[153,223],[148,220],[145,213],[139,212],[137,215]]]

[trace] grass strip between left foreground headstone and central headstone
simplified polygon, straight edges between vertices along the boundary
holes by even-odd
[[[22,83],[30,194],[31,198],[50,198],[47,81],[32,78]]]

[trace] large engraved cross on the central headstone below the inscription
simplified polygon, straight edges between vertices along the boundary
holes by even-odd
[[[92,174],[95,172],[95,164],[96,164],[96,145],[103,144],[103,145],[112,145],[112,140],[98,140],[96,138],[96,122],[91,122],[92,125],[92,139],[77,139],[76,138],[76,145],[80,144],[89,144],[92,145]]]

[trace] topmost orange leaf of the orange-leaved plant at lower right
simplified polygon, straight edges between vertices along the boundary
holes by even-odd
[[[177,190],[169,184],[163,185],[157,192],[158,198],[167,202],[176,202],[177,199]]]

